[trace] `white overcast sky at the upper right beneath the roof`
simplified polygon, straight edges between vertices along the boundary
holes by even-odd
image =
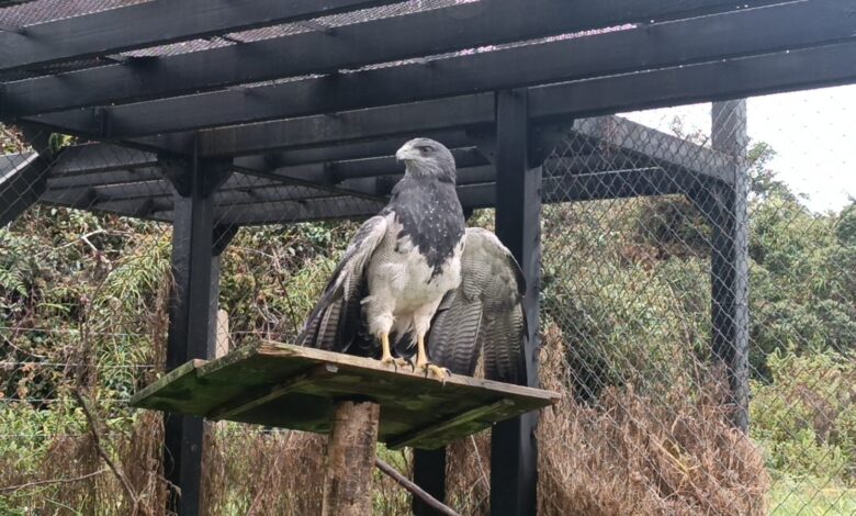
[[[710,133],[710,104],[624,114],[666,132],[676,115]],[[837,211],[856,198],[856,86],[751,98],[748,134],[773,146],[770,168],[812,210]]]

